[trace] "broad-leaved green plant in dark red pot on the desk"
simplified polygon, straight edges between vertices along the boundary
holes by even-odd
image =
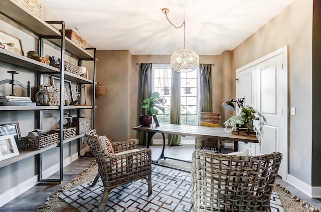
[[[158,114],[158,110],[165,112],[165,108],[161,105],[162,103],[157,100],[159,93],[157,91],[153,92],[149,98],[144,99],[141,103],[141,108],[144,109],[145,115],[139,117],[139,123],[142,127],[150,127],[152,115]]]

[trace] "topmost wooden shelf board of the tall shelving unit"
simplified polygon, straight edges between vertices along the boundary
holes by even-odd
[[[30,13],[28,9],[26,9],[24,6],[22,6],[20,3],[16,2],[15,0],[1,0],[0,13],[15,20],[21,26],[23,26],[26,29],[29,29],[31,32],[33,32],[37,36],[41,36],[41,37],[61,36],[61,33],[57,29],[47,24],[41,18]],[[50,39],[49,41],[58,46],[61,46],[60,39]],[[89,52],[82,49],[81,47],[77,46],[73,41],[71,41],[68,38],[66,38],[65,50],[79,58],[84,58],[84,59],[94,58],[93,55],[91,55]]]

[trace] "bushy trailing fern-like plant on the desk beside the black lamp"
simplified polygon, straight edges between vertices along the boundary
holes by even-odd
[[[258,121],[257,124],[256,121]],[[224,122],[226,132],[231,132],[231,130],[236,130],[237,126],[242,126],[249,131],[254,131],[259,139],[263,135],[264,124],[266,124],[265,117],[251,106],[242,107],[239,115],[233,115]],[[228,126],[232,128],[228,128]]]

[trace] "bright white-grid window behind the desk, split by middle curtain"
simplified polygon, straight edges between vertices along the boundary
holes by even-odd
[[[153,64],[153,91],[163,101],[165,113],[158,113],[158,122],[170,123],[172,67],[170,64]],[[198,83],[197,71],[181,73],[181,124],[197,125]]]

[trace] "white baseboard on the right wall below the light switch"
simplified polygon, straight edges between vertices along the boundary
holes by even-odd
[[[310,186],[290,174],[287,175],[287,183],[311,198],[321,198],[321,186]]]

